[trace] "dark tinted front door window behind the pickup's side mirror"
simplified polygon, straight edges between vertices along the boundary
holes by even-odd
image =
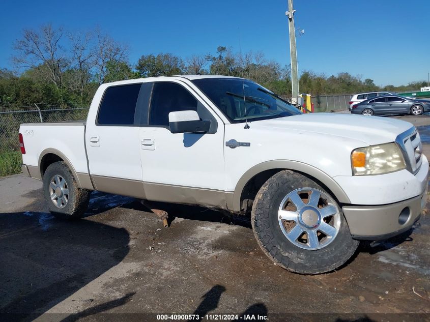
[[[197,99],[184,87],[176,83],[154,84],[151,99],[150,125],[169,125],[169,113],[197,110]]]

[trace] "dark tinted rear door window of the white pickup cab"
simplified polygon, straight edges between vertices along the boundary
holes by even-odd
[[[108,87],[104,92],[97,122],[100,125],[133,125],[141,84]]]

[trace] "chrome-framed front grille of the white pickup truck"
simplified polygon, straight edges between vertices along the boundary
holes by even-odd
[[[398,135],[396,143],[402,150],[407,169],[412,173],[418,172],[422,164],[422,143],[417,129],[413,127]]]

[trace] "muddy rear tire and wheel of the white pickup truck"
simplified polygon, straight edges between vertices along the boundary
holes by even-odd
[[[73,173],[63,161],[54,162],[46,169],[43,194],[51,214],[60,219],[81,218],[90,200],[90,191],[78,188]]]

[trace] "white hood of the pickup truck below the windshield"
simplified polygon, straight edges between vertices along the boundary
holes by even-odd
[[[251,126],[273,130],[293,130],[297,133],[318,133],[360,140],[369,145],[393,142],[397,135],[413,125],[381,116],[341,113],[309,113],[285,118],[253,122]]]

